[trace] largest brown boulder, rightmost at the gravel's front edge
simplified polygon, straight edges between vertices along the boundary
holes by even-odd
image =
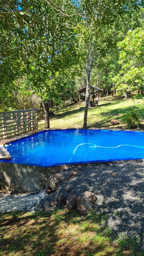
[[[77,211],[80,215],[87,214],[94,206],[97,197],[90,191],[85,191],[76,199]]]

